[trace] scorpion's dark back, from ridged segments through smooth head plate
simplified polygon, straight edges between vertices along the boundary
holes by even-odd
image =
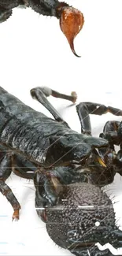
[[[105,139],[79,134],[31,109],[2,87],[0,106],[1,143],[26,154],[39,165],[57,164],[58,159],[61,162],[80,161],[91,154],[92,147],[107,145]]]

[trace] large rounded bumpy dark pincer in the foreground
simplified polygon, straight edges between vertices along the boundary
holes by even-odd
[[[68,184],[60,190],[55,206],[46,209],[46,230],[54,243],[79,256],[112,255],[108,249],[98,250],[98,242],[121,247],[113,204],[92,184]]]

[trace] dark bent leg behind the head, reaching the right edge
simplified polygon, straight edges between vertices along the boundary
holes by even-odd
[[[93,102],[80,102],[76,106],[76,111],[79,116],[81,124],[81,132],[91,135],[91,121],[90,114],[102,115],[105,113],[113,113],[115,116],[122,116],[122,110],[113,108],[112,106],[105,106]]]

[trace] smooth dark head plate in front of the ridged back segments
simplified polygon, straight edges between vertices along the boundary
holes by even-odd
[[[54,135],[50,138],[50,147],[48,147],[46,153],[46,165],[64,165],[64,163],[75,162],[77,164],[86,161],[92,153],[92,158],[95,161],[101,161],[97,159],[98,154],[95,148],[107,147],[108,142],[102,138],[95,138],[89,135],[83,134],[65,134]],[[94,154],[94,156],[93,156]]]

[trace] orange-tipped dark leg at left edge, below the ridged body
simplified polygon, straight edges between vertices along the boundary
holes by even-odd
[[[13,191],[5,183],[5,180],[10,176],[12,172],[12,155],[6,154],[0,163],[0,191],[2,195],[5,195],[10,204],[13,206],[13,219],[19,219],[20,203],[17,201]]]

